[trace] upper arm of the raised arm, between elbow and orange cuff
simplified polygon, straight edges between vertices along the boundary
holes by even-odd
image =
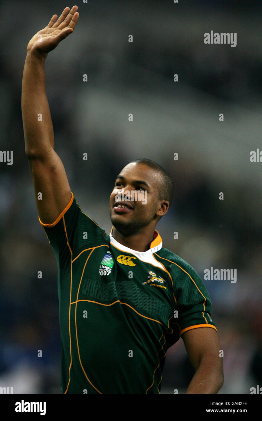
[[[29,156],[37,211],[43,224],[53,224],[71,199],[64,165],[51,149],[44,157]]]

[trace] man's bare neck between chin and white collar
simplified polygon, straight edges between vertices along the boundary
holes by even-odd
[[[112,236],[125,247],[136,251],[146,251],[150,248],[150,244],[153,241],[154,231],[155,230],[153,229],[153,231],[151,230],[150,232],[139,232],[125,237],[121,232],[117,231],[117,229],[113,227]]]

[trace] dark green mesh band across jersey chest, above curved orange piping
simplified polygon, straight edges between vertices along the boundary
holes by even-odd
[[[130,284],[130,282],[132,281],[120,281],[115,284],[104,280],[85,279],[82,295],[93,297],[98,301],[105,301],[105,304],[113,298],[120,301],[128,301],[127,304],[134,306],[142,314],[146,312],[150,317],[159,317],[161,320],[166,320],[170,317],[173,309],[167,302],[161,301],[157,296],[148,295],[138,285],[135,283]],[[153,288],[149,285],[145,287]]]

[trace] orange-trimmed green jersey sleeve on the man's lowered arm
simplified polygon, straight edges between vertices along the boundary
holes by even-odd
[[[186,262],[175,279],[174,293],[177,300],[177,325],[181,336],[187,330],[208,327],[217,330],[212,316],[212,303],[204,282]]]

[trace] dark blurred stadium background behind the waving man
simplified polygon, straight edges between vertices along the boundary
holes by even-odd
[[[237,269],[236,283],[204,283],[224,351],[219,393],[249,394],[262,386],[262,163],[249,160],[262,146],[261,4],[76,4],[74,34],[46,60],[55,149],[71,190],[109,232],[109,195],[124,165],[147,157],[169,171],[175,194],[157,226],[163,246],[203,280],[211,266]],[[25,156],[21,83],[27,43],[72,5],[0,6],[0,150],[13,150],[13,165],[0,163],[0,386],[14,393],[61,393],[56,259],[38,221]],[[204,44],[211,30],[236,32],[237,46]],[[185,393],[192,376],[180,339],[167,352],[161,393]]]

